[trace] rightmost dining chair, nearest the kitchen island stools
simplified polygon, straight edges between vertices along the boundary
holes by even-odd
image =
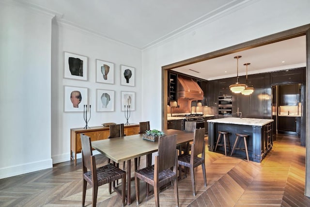
[[[198,167],[199,165],[202,165],[202,175],[204,179],[204,186],[207,187],[207,178],[205,174],[205,140],[204,140],[204,130],[205,128],[199,128],[195,129],[195,136],[194,136],[194,142],[191,144],[191,152],[189,154],[182,154],[178,156],[178,163],[179,163],[179,175],[182,178],[182,170],[181,166],[189,168],[191,180],[192,180],[192,189],[193,189],[193,195],[196,196],[195,191],[195,174],[194,174],[194,168]],[[201,154],[201,158],[198,157],[198,155]]]

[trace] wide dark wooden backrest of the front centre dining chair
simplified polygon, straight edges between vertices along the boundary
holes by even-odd
[[[158,172],[175,165],[176,134],[158,139]]]

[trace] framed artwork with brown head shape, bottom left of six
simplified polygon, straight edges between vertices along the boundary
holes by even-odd
[[[76,86],[64,86],[64,112],[84,111],[84,105],[91,104],[88,102],[88,88]]]

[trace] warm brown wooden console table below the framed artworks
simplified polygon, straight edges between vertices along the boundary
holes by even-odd
[[[140,126],[139,124],[130,124],[124,125],[124,133],[126,135],[139,134]],[[71,159],[74,160],[74,165],[77,165],[77,153],[80,153],[82,150],[81,144],[81,134],[85,134],[91,137],[92,141],[96,140],[105,140],[108,139],[110,130],[109,127],[90,127],[88,129],[85,128],[71,128]]]

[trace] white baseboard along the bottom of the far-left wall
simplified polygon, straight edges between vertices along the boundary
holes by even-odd
[[[30,162],[21,165],[0,168],[0,179],[26,173],[32,173],[34,171],[45,170],[52,167],[52,159],[45,159],[37,162]]]

